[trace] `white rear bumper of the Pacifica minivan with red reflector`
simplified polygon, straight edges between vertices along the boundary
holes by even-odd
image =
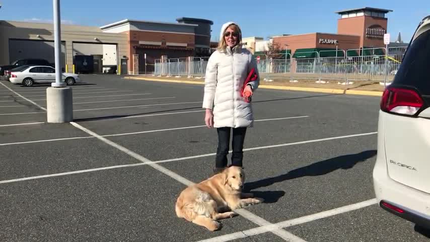
[[[378,160],[384,158],[384,160]],[[377,201],[381,208],[403,219],[430,229],[430,194],[405,186],[391,179],[387,173],[385,156],[377,158],[373,170],[373,182]],[[395,206],[403,213],[383,205]]]

